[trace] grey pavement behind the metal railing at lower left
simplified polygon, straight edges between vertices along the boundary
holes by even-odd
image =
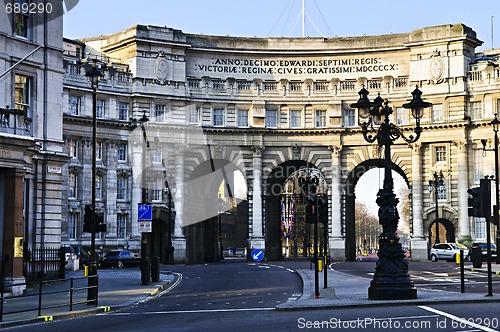
[[[163,289],[167,289],[177,280],[175,274],[167,272],[171,267],[161,266],[160,281],[151,282],[149,285],[142,285],[141,271],[128,269],[100,269],[99,275],[99,295],[98,306],[77,304],[74,305],[73,311],[69,308],[69,291],[44,295],[42,298],[42,306],[56,306],[67,304],[66,306],[44,309],[41,316],[38,316],[38,311],[6,314],[8,312],[36,309],[38,307],[38,296],[26,298],[5,299],[3,304],[3,322],[0,322],[0,328],[7,326],[15,326],[20,324],[54,320],[58,318],[68,318],[88,314],[98,314],[110,310],[116,310],[123,306],[146,299]],[[83,277],[83,271],[67,272],[66,279]],[[87,280],[77,280],[74,284],[73,302],[84,302],[87,299],[87,290],[77,291],[78,287],[86,287]],[[43,286],[43,293],[51,291],[69,290],[69,282],[53,283]],[[28,287],[26,294],[38,294],[37,287]]]

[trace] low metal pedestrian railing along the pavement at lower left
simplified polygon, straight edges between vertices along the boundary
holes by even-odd
[[[96,278],[95,285],[92,285],[89,278]],[[75,310],[78,306],[97,306],[97,299],[88,299],[88,290],[95,288],[99,294],[98,275],[55,279],[37,282],[26,282],[16,284],[16,287],[26,286],[26,291],[22,295],[12,295],[6,292],[6,285],[0,289],[0,322],[4,318],[26,319],[31,318],[36,312],[37,316],[50,315],[60,312],[59,308],[68,308],[68,311]]]

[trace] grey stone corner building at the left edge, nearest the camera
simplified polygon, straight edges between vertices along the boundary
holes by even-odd
[[[1,275],[19,293],[25,276],[50,274],[34,251],[59,248],[65,218],[62,17],[2,10],[0,45]]]

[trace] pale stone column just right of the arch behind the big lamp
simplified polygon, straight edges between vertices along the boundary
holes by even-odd
[[[412,210],[413,210],[413,235],[410,242],[411,259],[413,261],[426,261],[428,257],[428,243],[424,235],[423,219],[423,176],[422,176],[422,145],[411,145],[411,173],[412,173]]]

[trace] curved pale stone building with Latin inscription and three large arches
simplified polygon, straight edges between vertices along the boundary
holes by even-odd
[[[492,147],[490,122],[500,107],[498,53],[478,52],[481,45],[463,24],[348,38],[221,37],[137,25],[64,39],[71,160],[63,168],[61,240],[90,243],[82,232],[93,148],[85,62],[94,59],[105,73],[95,147],[97,209],[107,223],[96,239],[102,250],[140,248],[141,228],[152,227],[148,250],[162,259],[171,243],[176,262],[217,260],[221,242],[224,250],[259,248],[268,260],[281,259],[285,184],[305,169],[322,177],[328,254],[354,259],[354,188],[384,165],[383,147],[366,143],[349,106],[362,87],[389,100],[391,121],[408,134],[415,120],[402,105],[415,87],[432,103],[420,139],[391,147],[392,169],[409,189],[411,258],[428,259],[436,223],[442,242],[480,239],[486,224],[468,216],[467,189],[494,174],[481,139]],[[439,204],[427,188],[435,172],[445,183]],[[235,198],[237,175],[243,198]],[[154,207],[150,226],[138,222],[144,200]]]

